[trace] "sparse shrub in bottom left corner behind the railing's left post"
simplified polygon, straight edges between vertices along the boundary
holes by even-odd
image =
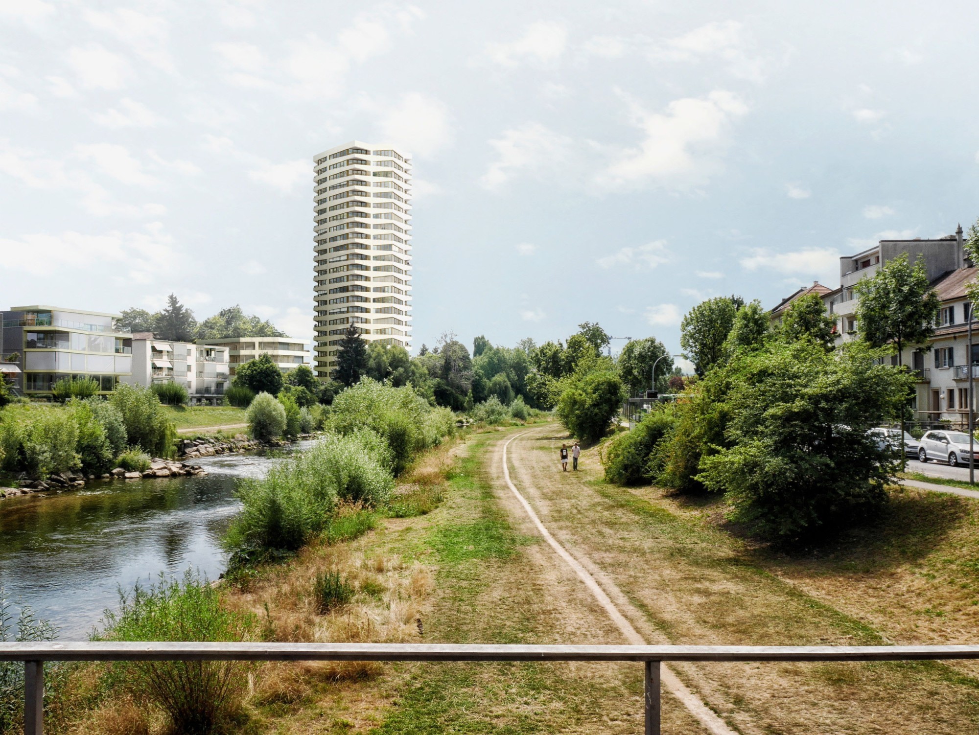
[[[52,641],[57,630],[47,620],[39,620],[27,606],[21,608],[14,621],[13,604],[0,586],[0,642]],[[44,666],[44,698],[50,702],[60,693],[61,666],[48,663]],[[23,662],[0,662],[0,733],[23,731]]]

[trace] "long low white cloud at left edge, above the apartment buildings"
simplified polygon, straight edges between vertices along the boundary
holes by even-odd
[[[111,262],[120,280],[139,284],[153,283],[180,262],[173,238],[163,232],[160,222],[135,232],[115,230],[104,235],[85,235],[68,231],[0,239],[0,251],[6,253],[4,267],[32,275],[50,275],[59,270],[104,270],[105,264]],[[45,256],[39,258],[37,253]]]

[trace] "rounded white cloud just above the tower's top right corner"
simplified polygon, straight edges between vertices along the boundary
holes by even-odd
[[[375,103],[381,138],[406,148],[412,156],[429,156],[452,144],[451,115],[443,102],[418,92]]]

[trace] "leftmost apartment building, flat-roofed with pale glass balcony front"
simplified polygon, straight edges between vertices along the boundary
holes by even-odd
[[[19,368],[5,371],[18,393],[50,393],[63,378],[92,378],[109,393],[132,373],[132,335],[115,329],[118,314],[33,305],[0,316],[0,359]]]

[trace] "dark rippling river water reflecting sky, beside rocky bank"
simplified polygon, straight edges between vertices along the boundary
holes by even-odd
[[[300,442],[297,448],[303,448]],[[195,460],[207,475],[90,482],[0,501],[0,584],[8,599],[85,640],[118,588],[193,568],[216,579],[238,501],[235,485],[278,461],[260,453]]]

